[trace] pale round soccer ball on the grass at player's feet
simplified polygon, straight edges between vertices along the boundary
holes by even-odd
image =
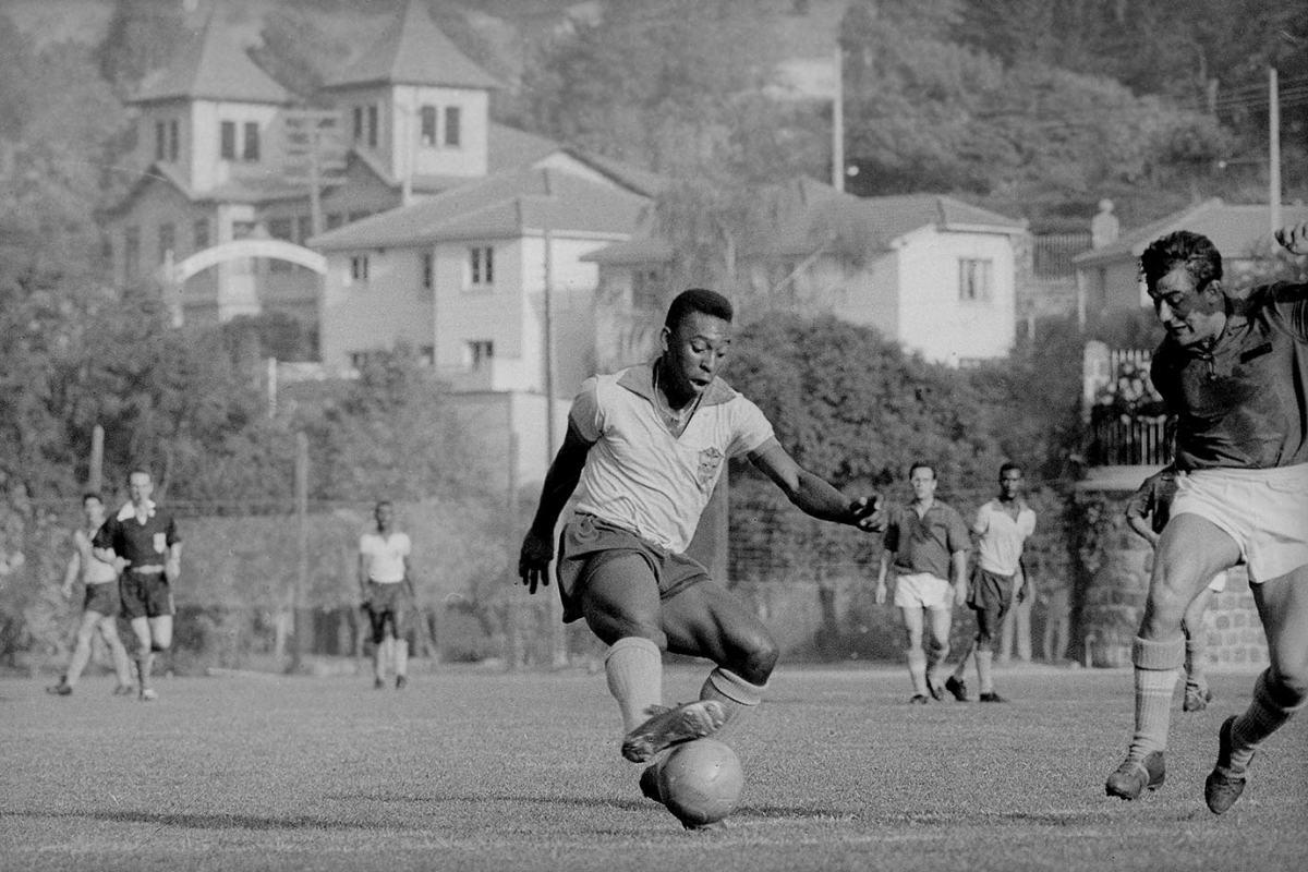
[[[658,792],[687,828],[714,824],[735,811],[744,787],[740,761],[715,739],[678,745],[658,766]]]

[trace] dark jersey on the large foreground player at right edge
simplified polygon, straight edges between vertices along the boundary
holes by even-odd
[[[1228,299],[1211,348],[1168,337],[1151,375],[1177,416],[1179,469],[1308,463],[1308,285],[1264,285]]]

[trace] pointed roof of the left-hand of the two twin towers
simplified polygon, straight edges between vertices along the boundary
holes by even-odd
[[[292,102],[290,92],[250,59],[233,33],[215,20],[211,9],[204,26],[178,46],[171,61],[150,71],[129,103],[167,99],[212,99],[235,103]]]

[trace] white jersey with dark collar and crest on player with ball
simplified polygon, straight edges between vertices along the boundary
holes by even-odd
[[[713,379],[680,435],[654,401],[654,369],[632,366],[586,379],[568,424],[591,443],[577,488],[577,510],[681,553],[729,458],[773,437],[757,405]]]

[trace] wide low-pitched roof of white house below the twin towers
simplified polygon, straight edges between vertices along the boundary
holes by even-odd
[[[314,237],[320,251],[556,233],[630,233],[647,200],[548,167],[501,173]]]

